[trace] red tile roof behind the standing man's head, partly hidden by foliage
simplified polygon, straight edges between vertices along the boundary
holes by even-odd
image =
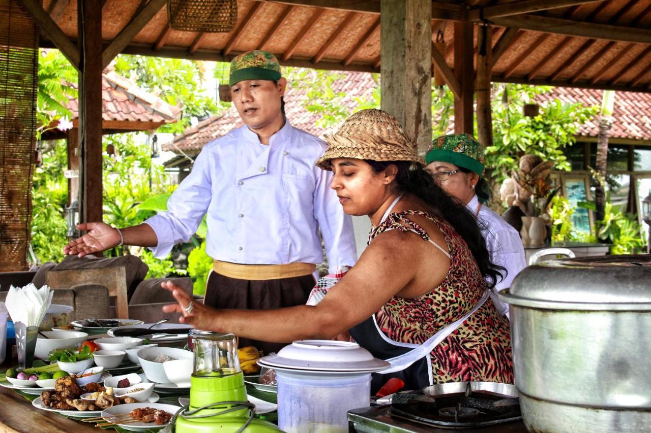
[[[367,72],[342,72],[342,78],[333,83],[333,92],[346,93],[342,98],[342,105],[352,112],[353,109],[359,106],[357,98],[366,99],[375,90],[377,83],[374,81],[372,74]],[[327,132],[324,128],[318,126],[316,122],[319,120],[319,115],[314,112],[307,111],[301,101],[306,96],[307,90],[295,86],[288,86],[285,94],[285,112],[287,118],[290,120],[294,127],[303,129],[317,137]],[[243,125],[238,111],[234,106],[231,106],[220,115],[212,116],[199,124],[186,129],[184,133],[174,137],[172,143],[163,144],[163,150],[170,150],[180,153],[182,150],[189,155],[196,155],[201,151],[204,144],[219,138],[231,129]]]

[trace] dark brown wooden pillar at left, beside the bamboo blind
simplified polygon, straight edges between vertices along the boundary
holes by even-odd
[[[81,222],[102,221],[102,0],[77,0]]]

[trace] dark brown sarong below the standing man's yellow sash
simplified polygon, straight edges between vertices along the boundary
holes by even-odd
[[[314,288],[314,277],[304,275],[280,280],[238,280],[210,272],[204,304],[213,308],[273,309],[304,305]],[[240,338],[240,347],[255,346],[265,355],[278,352],[286,343]]]

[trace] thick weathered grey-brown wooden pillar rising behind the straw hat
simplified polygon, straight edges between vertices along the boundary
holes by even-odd
[[[432,1],[380,2],[381,107],[424,155],[432,141]]]

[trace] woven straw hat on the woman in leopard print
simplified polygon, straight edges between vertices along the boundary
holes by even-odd
[[[335,135],[326,135],[324,140],[328,144],[326,153],[316,161],[324,170],[332,170],[333,158],[412,161],[424,165],[414,142],[396,118],[385,111],[358,111],[346,119]]]

